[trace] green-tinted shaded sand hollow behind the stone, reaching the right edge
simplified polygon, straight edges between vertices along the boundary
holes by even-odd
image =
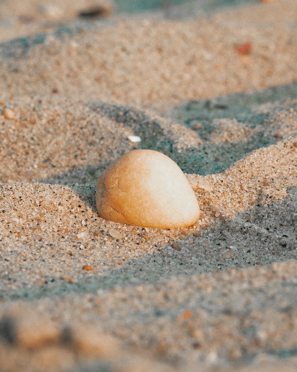
[[[219,173],[249,152],[296,134],[297,84],[177,106],[173,119],[203,140],[174,154],[186,173]]]

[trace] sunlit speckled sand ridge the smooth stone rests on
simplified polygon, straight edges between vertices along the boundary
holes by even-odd
[[[6,273],[5,278],[9,278],[3,281],[6,291],[8,287],[16,289],[29,278],[28,283],[48,281],[52,275],[76,280],[86,275],[81,271],[85,264],[94,267],[92,273],[101,273],[107,266],[118,267],[125,261],[163,249],[164,245],[171,248],[170,244],[180,234],[192,235],[192,244],[194,239],[200,247],[201,241],[205,243],[205,240],[197,240],[193,233],[197,235],[200,228],[211,226],[221,219],[234,221],[236,216],[245,212],[247,215],[238,227],[227,224],[229,230],[235,228],[235,231],[227,235],[233,236],[236,231],[241,234],[241,231],[247,230],[246,223],[255,219],[254,213],[258,213],[258,209],[253,209],[252,206],[269,206],[272,202],[287,200],[288,187],[297,186],[296,148],[296,139],[278,142],[256,150],[222,174],[206,176],[212,192],[202,189],[196,191],[201,208],[198,224],[194,228],[182,230],[144,229],[102,220],[95,209],[94,186],[3,184],[0,209],[1,239],[4,244],[3,253],[5,252],[3,270]],[[293,205],[296,202],[294,195],[291,196]],[[291,216],[290,209],[283,208],[282,211],[286,224],[294,225],[295,219]],[[269,221],[268,219],[267,223]],[[235,225],[237,223],[238,220]],[[259,232],[261,239],[245,244],[250,244],[248,247],[253,250],[255,244],[259,244],[258,248],[262,247],[262,233],[267,234],[268,238],[271,234],[265,230],[271,228],[272,241],[276,234],[280,242],[278,247],[283,246],[290,251],[294,248],[294,240],[290,244],[285,243],[286,239],[279,236],[280,231],[283,235],[280,225],[274,223],[276,231],[271,225],[262,226]],[[285,235],[288,237],[288,234]],[[206,241],[210,245],[212,242]],[[237,246],[241,243],[238,241]],[[223,243],[222,247],[227,249],[228,245]],[[180,244],[177,249],[181,249]],[[293,249],[293,255],[294,252]]]

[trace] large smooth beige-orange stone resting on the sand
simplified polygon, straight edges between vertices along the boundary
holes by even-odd
[[[182,170],[166,155],[134,150],[98,178],[96,206],[109,221],[162,229],[187,227],[199,218],[199,205]]]

